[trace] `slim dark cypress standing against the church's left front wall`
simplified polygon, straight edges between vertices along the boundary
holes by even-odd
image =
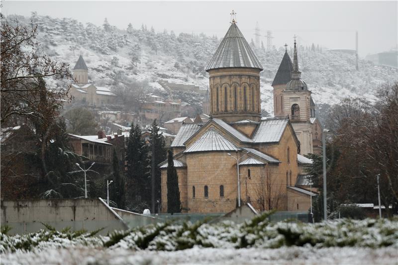
[[[167,165],[167,212],[181,213],[180,189],[178,187],[177,170],[174,167],[173,152],[168,151]]]

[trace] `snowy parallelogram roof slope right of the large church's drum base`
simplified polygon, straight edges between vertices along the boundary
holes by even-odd
[[[262,120],[253,136],[253,141],[255,143],[279,142],[287,125],[287,119]]]

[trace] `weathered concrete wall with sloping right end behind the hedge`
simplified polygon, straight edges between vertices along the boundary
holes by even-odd
[[[103,235],[128,228],[101,198],[1,200],[1,225],[10,226],[10,234],[38,231],[44,228],[41,223],[57,230],[104,228],[99,233]]]

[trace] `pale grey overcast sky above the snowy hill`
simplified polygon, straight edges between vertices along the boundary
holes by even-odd
[[[359,34],[359,55],[397,49],[398,1],[15,1],[4,0],[5,15],[72,17],[83,23],[111,25],[125,29],[128,23],[142,23],[155,31],[176,34],[205,33],[223,37],[230,12],[237,13],[238,27],[247,41],[255,39],[258,22],[261,40],[267,45],[267,30],[277,47],[293,44],[299,36],[302,45],[315,43],[328,48],[355,49]]]

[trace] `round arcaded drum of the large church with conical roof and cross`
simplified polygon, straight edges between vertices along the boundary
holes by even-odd
[[[207,65],[210,115],[226,122],[261,120],[260,72],[263,68],[237,26],[231,26]]]

